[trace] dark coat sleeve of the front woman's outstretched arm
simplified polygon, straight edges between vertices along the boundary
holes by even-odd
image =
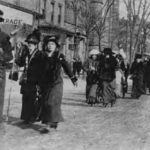
[[[69,63],[66,61],[63,54],[60,55],[59,60],[61,62],[61,65],[62,65],[65,73],[69,76],[69,78],[72,78],[73,73],[72,73],[71,67],[70,67]]]

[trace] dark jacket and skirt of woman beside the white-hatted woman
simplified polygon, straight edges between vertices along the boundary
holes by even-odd
[[[117,60],[114,56],[105,55],[100,57],[98,67],[99,80],[102,82],[102,97],[104,104],[113,103],[116,100],[114,80],[116,78],[115,70],[117,67]]]

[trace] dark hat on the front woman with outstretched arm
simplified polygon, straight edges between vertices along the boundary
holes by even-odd
[[[60,46],[60,44],[59,44],[59,37],[58,36],[56,36],[56,35],[48,35],[48,36],[46,36],[44,38],[45,45],[47,45],[48,42],[50,42],[50,41],[56,43],[57,47]]]

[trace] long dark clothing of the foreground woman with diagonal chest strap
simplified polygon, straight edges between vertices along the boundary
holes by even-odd
[[[25,50],[27,51],[27,49]],[[27,54],[26,57],[22,55],[23,57],[16,59],[17,65],[20,67],[25,66],[24,72],[27,74],[26,81],[21,84],[21,94],[23,95],[21,119],[34,121],[34,119],[36,119],[34,115],[34,103],[37,96],[37,86],[41,83],[41,75],[43,72],[42,58],[44,57],[42,52],[37,49],[31,55],[29,53]]]

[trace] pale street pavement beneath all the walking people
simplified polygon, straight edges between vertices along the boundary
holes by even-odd
[[[117,99],[114,107],[88,106],[85,80],[78,87],[64,78],[62,112],[56,131],[41,135],[40,123],[20,122],[21,95],[17,82],[7,80],[4,116],[10,97],[9,120],[0,126],[0,150],[150,150],[150,97]],[[11,91],[11,94],[10,94]]]

